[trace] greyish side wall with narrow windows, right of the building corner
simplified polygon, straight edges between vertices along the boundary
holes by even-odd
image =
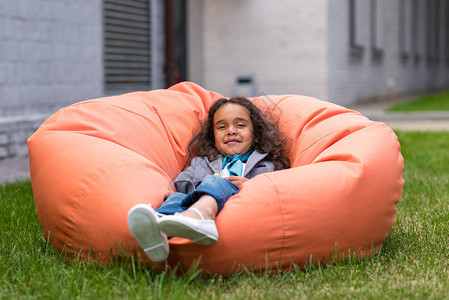
[[[364,47],[360,57],[350,55],[349,47],[349,1],[328,0],[329,41],[328,48],[328,98],[334,103],[348,105],[372,99],[396,97],[430,90],[448,88],[449,70],[441,60],[429,64],[426,59],[426,0],[418,0],[417,49],[421,59],[402,59],[402,30],[400,25],[401,3],[399,0],[378,0],[382,5],[379,20],[383,56],[373,58],[371,40],[370,0],[356,0],[360,5],[360,44]],[[410,1],[411,2],[411,1]],[[443,14],[442,14],[443,16]],[[443,21],[441,24],[444,24]],[[440,25],[440,50],[443,53],[443,31]],[[407,34],[412,35],[412,32]]]

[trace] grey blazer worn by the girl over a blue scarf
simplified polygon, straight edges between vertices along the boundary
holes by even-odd
[[[243,176],[250,179],[262,173],[273,172],[274,164],[266,160],[266,156],[266,154],[254,151],[246,162]],[[176,191],[184,194],[194,191],[207,175],[220,173],[222,164],[221,156],[213,161],[202,156],[193,158],[190,166],[173,181]]]

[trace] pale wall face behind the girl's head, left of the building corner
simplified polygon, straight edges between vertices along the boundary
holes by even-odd
[[[326,98],[326,1],[203,1],[202,84],[230,96],[239,75],[255,94]]]

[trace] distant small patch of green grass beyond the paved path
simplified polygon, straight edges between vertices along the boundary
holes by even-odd
[[[387,112],[417,112],[449,110],[449,91],[425,95],[408,102],[393,104]]]

